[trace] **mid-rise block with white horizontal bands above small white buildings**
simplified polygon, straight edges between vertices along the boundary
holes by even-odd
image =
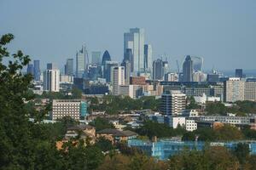
[[[186,109],[186,94],[180,91],[166,91],[161,96],[161,111],[165,115],[182,115]]]

